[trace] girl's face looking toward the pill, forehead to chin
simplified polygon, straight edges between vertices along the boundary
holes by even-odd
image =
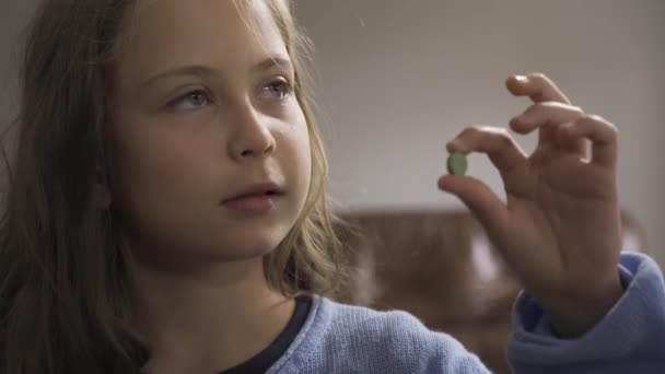
[[[311,153],[266,2],[139,1],[124,32],[113,199],[135,254],[178,267],[275,249],[305,203]],[[280,194],[230,201],[264,183]]]

